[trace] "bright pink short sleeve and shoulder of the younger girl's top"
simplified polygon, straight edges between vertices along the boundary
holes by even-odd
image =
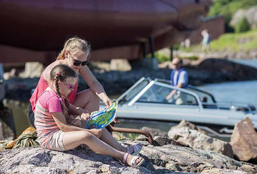
[[[41,104],[42,107],[48,109],[50,113],[62,112],[62,107],[61,107],[61,102],[59,100],[59,97],[56,94],[53,95],[53,93],[50,91],[45,91],[40,96],[39,103]]]

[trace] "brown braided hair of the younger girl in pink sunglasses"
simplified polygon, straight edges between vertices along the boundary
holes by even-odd
[[[60,64],[53,67],[53,69],[50,72],[50,79],[55,80],[55,89],[57,91],[57,95],[60,98],[62,112],[65,115],[69,110],[69,100],[67,97],[64,97],[64,103],[62,101],[62,95],[60,94],[59,89],[59,81],[61,82],[68,82],[72,79],[76,79],[78,76],[76,72],[69,67],[68,65]]]

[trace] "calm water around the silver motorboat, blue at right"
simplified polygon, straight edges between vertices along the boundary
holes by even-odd
[[[257,68],[257,59],[251,60],[240,60],[233,59],[234,62],[250,65]],[[213,94],[217,101],[237,101],[237,102],[246,102],[253,104],[257,107],[257,80],[255,81],[238,81],[238,82],[224,82],[219,84],[208,84],[200,86],[201,89],[204,89],[211,94]],[[110,98],[118,98],[118,96],[109,96]],[[30,125],[28,119],[28,102],[11,101],[5,103],[5,105],[12,109],[14,122],[16,127],[17,135],[20,135],[22,131],[28,128]],[[118,127],[126,128],[141,128],[143,126],[159,128],[162,131],[168,131],[171,126],[174,124],[171,123],[144,123],[140,121],[133,122],[123,122],[117,124]]]

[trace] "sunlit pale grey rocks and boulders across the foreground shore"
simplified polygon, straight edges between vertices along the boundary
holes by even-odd
[[[124,166],[117,159],[96,154],[91,150],[75,148],[59,152],[35,146],[1,151],[0,173],[257,173],[257,165],[245,162],[254,161],[257,150],[257,133],[249,118],[235,125],[230,143],[217,141],[194,128],[193,124],[186,121],[171,127],[168,134],[156,129],[145,128],[153,136],[160,134],[168,136],[155,136],[156,146],[149,144],[145,138],[118,141],[123,146],[132,146],[139,142],[143,145],[139,156],[143,157],[145,162],[137,168]],[[181,132],[178,129],[186,129],[186,131]],[[197,136],[195,136],[196,134]],[[233,159],[234,157],[237,160]]]

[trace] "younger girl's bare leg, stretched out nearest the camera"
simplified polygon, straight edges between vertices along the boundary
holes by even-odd
[[[95,153],[115,157],[119,160],[122,160],[125,154],[124,152],[118,151],[105,142],[99,140],[90,132],[72,131],[64,133],[63,145],[65,150],[73,149],[80,144],[86,144]],[[130,162],[132,158],[133,156],[129,155],[127,158],[127,163]],[[142,158],[140,157],[136,160],[136,163],[139,163],[141,160]]]

